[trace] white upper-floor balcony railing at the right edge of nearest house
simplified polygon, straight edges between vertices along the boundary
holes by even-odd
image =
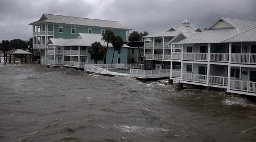
[[[231,63],[235,64],[256,64],[256,54],[253,53],[232,53]]]

